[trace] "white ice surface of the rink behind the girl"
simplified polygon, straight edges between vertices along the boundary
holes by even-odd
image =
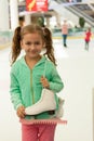
[[[55,141],[93,141],[93,87],[94,87],[94,39],[89,51],[83,39],[68,39],[68,48],[62,39],[54,39],[57,69],[64,81],[58,93],[65,99],[64,119],[58,125]],[[11,48],[0,51],[0,141],[21,141],[21,124],[10,100]]]

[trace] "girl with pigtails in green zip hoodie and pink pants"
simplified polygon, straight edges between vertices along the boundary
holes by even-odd
[[[17,60],[21,50],[25,55]],[[45,50],[45,52],[44,52]],[[43,55],[41,52],[44,52]],[[46,56],[45,56],[46,55]],[[17,61],[16,61],[17,60]],[[46,62],[45,77],[43,77]],[[42,88],[51,89],[55,94],[56,107],[59,92],[64,85],[56,70],[51,31],[38,25],[17,27],[13,37],[12,69],[11,69],[11,100],[19,118],[49,119],[54,113],[43,112],[30,116],[25,108],[40,100]],[[54,141],[56,125],[53,124],[22,124],[22,141]]]

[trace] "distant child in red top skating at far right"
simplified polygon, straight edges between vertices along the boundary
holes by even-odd
[[[85,31],[85,37],[84,37],[84,41],[85,41],[85,50],[89,51],[89,44],[90,44],[90,40],[91,40],[91,27],[88,28],[88,30]]]

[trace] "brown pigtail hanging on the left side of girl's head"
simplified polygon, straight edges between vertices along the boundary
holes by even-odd
[[[12,63],[13,64],[21,53],[21,27],[16,27],[12,40]]]

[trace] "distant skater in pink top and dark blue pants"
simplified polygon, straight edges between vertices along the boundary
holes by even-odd
[[[66,20],[64,21],[63,26],[62,26],[62,35],[63,35],[64,47],[67,47],[68,24]]]

